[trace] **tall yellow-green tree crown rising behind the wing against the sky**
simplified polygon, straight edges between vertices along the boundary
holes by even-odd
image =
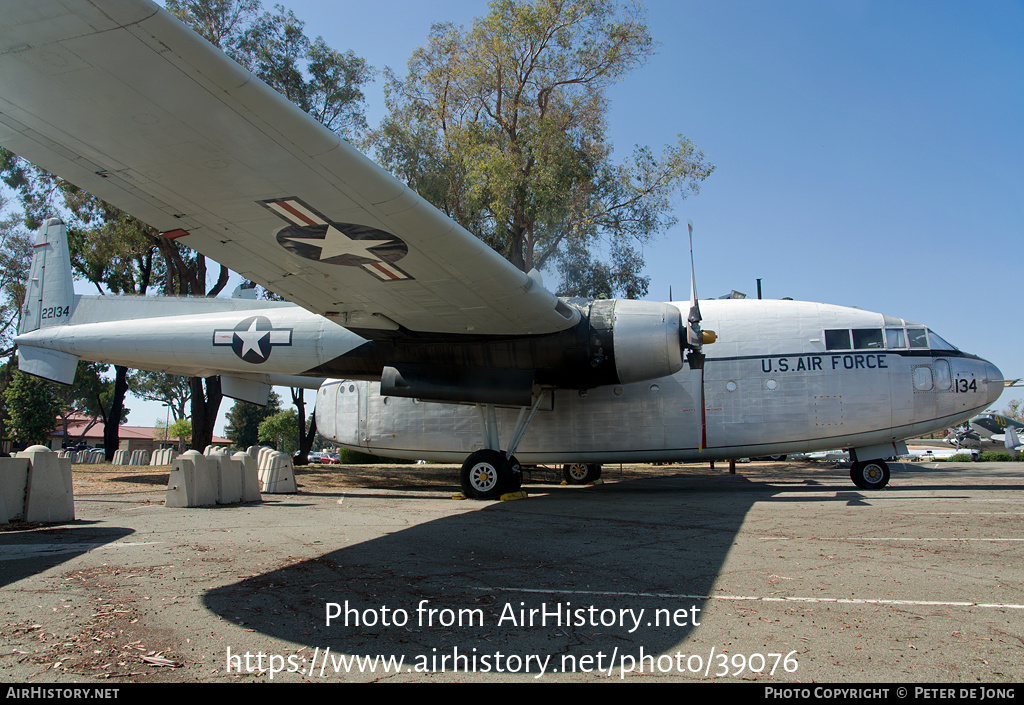
[[[404,79],[388,73],[371,144],[520,269],[558,269],[559,293],[642,296],[643,244],[714,169],[682,136],[613,161],[607,89],[652,51],[636,6],[496,0],[469,30],[435,25]]]

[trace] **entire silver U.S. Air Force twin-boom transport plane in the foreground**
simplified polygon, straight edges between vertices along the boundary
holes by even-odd
[[[0,143],[291,301],[75,295],[52,220],[17,337],[32,374],[220,374],[256,402],[328,378],[322,432],[464,460],[475,497],[516,487],[519,461],[582,482],[603,462],[833,448],[880,488],[901,440],[1002,389],[990,363],[881,314],[698,303],[692,285],[685,304],[561,300],[146,0],[0,9]]]

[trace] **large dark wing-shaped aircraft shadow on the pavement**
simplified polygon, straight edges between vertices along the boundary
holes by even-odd
[[[458,653],[478,659],[459,670],[484,670],[483,655],[551,655],[560,671],[603,653],[607,665],[614,653],[668,652],[690,633],[748,510],[776,492],[735,475],[554,488],[257,575],[204,602],[247,629],[308,646],[306,657],[330,649],[436,670]],[[327,626],[329,604],[340,614]],[[514,659],[490,664],[525,670]]]

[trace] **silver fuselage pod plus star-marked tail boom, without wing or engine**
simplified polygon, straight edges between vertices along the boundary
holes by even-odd
[[[688,302],[673,304],[685,310]],[[701,301],[700,371],[587,389],[538,387],[520,462],[725,459],[872,448],[963,423],[994,402],[1002,375],[926,327],[823,303]],[[399,458],[461,462],[504,447],[523,412],[380,393],[381,355],[333,321],[290,303],[75,296],[70,317],[18,336],[33,350],[180,375],[219,374],[315,386],[316,425],[339,445]],[[414,350],[415,351],[415,350]],[[243,397],[244,399],[244,397]],[[489,413],[489,412],[486,412]]]

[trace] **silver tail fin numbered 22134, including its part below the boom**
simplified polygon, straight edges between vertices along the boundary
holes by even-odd
[[[68,227],[48,219],[36,236],[32,267],[25,287],[25,305],[18,334],[66,326],[75,313],[75,288],[68,251]],[[78,357],[33,345],[18,344],[18,369],[63,384],[75,381]]]

